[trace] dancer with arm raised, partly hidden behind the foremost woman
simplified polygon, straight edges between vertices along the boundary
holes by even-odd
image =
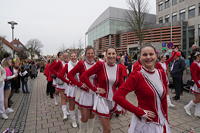
[[[169,80],[168,80],[168,76],[167,76],[167,68],[168,68],[169,63],[174,60],[174,57],[176,56],[177,51],[178,51],[178,49],[174,49],[172,52],[172,56],[167,60],[166,60],[165,55],[161,55],[160,61],[155,66],[157,69],[162,69],[166,73],[166,78],[167,78],[168,84],[169,84]],[[172,102],[171,102],[169,92],[167,94],[167,105],[168,105],[168,107],[175,107],[175,105],[172,104]]]

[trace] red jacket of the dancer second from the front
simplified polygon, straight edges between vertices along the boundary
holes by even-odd
[[[98,61],[94,66],[92,66],[90,69],[85,71],[81,75],[81,81],[84,82],[91,90],[94,92],[97,91],[97,88],[104,88],[106,93],[100,94],[102,97],[108,98],[108,77],[106,74],[106,68],[105,68],[106,62]],[[120,65],[117,65],[117,75],[116,75],[116,81],[113,85],[113,93],[117,90],[117,88],[124,82],[122,72],[123,68]],[[96,74],[96,86],[92,84],[89,80],[89,77],[91,75]]]

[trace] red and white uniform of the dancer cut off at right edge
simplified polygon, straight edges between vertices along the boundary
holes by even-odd
[[[192,80],[194,85],[191,87],[193,93],[200,94],[200,62],[193,61],[190,66]]]

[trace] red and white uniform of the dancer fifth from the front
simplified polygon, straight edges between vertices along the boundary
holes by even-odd
[[[64,68],[65,62],[61,60],[55,60],[50,66],[49,70],[51,71],[51,74],[54,74],[56,77],[58,77],[59,72]],[[59,84],[59,78],[53,79],[53,86],[56,87],[58,90],[64,90],[64,84]]]

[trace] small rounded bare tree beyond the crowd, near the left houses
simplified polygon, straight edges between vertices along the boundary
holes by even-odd
[[[27,42],[26,44],[26,48],[28,49],[28,51],[30,52],[31,55],[31,59],[33,59],[33,57],[35,55],[40,56],[41,54],[41,50],[43,48],[43,44],[40,40],[38,39],[31,39]]]

